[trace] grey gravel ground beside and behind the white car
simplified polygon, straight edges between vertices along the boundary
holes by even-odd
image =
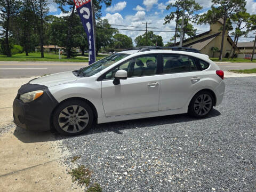
[[[256,77],[227,78],[220,106],[97,125],[63,140],[103,191],[256,191]],[[66,161],[73,166],[70,161]]]

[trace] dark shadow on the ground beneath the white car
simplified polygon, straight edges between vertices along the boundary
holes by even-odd
[[[204,119],[213,118],[219,115],[221,114],[218,110],[212,109],[209,116],[205,117]],[[127,130],[127,129],[139,129],[143,127],[151,127],[156,125],[192,122],[192,121],[199,121],[199,120],[202,120],[202,119],[190,117],[188,114],[179,114],[179,115],[168,115],[168,116],[161,116],[161,117],[134,119],[129,121],[103,123],[103,124],[95,125],[93,129],[91,129],[89,132],[85,134],[82,134],[82,136],[95,134],[95,133],[102,133],[102,132],[114,132],[116,134],[122,134],[122,130]],[[20,141],[25,143],[55,141],[55,140],[70,138],[70,137],[60,135],[57,131],[35,132],[35,131],[22,129],[18,126],[14,131],[14,136],[17,137]],[[81,137],[81,135],[77,135],[74,137]]]

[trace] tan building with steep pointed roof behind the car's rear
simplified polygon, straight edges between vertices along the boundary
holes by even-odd
[[[219,57],[219,53],[213,52],[212,47],[218,47],[220,50],[223,20],[219,19],[216,23],[210,25],[210,30],[205,33],[196,35],[194,37],[185,39],[182,43],[183,47],[190,47],[197,49],[203,54],[209,55],[209,57]],[[175,46],[179,45],[179,42]],[[225,33],[222,58],[228,57],[231,51],[231,47],[234,47],[235,51],[239,51],[234,41],[228,35],[228,31]]]

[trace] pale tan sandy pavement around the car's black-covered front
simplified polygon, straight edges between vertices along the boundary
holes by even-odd
[[[68,150],[59,150],[61,140],[51,132],[31,132],[12,123],[13,99],[30,79],[0,79],[1,191],[83,191],[60,163],[70,157]]]

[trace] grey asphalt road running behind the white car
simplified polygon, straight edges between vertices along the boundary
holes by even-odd
[[[75,70],[87,66],[87,62],[19,62],[0,61],[1,77],[31,77]],[[221,70],[252,69],[256,63],[218,63]]]

